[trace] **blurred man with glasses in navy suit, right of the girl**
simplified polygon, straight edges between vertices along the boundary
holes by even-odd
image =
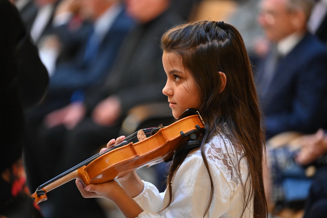
[[[267,139],[327,125],[327,49],[307,31],[313,0],[262,0],[259,22],[271,42],[254,70]]]

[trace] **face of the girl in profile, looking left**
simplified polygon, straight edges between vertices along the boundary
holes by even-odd
[[[167,83],[163,94],[168,96],[169,107],[177,119],[189,108],[198,109],[200,95],[191,73],[183,66],[180,57],[173,52],[163,52],[163,68],[167,74]]]

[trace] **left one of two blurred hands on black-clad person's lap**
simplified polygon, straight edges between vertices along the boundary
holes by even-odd
[[[67,129],[72,129],[83,119],[85,111],[82,103],[74,102],[46,115],[44,124],[48,128],[64,125]]]

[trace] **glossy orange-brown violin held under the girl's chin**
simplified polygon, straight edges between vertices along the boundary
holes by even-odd
[[[47,200],[47,192],[76,178],[84,185],[100,184],[116,180],[143,166],[149,167],[163,161],[168,162],[173,159],[175,152],[183,144],[187,144],[185,147],[189,149],[199,147],[200,142],[197,137],[204,127],[198,111],[187,109],[173,124],[139,130],[137,132],[139,142],[115,143],[39,186],[31,197],[38,204]],[[149,132],[151,136],[146,138]]]

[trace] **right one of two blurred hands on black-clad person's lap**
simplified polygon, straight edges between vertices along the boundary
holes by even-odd
[[[110,96],[102,100],[93,110],[92,118],[102,126],[112,126],[121,114],[121,104],[118,97]]]

